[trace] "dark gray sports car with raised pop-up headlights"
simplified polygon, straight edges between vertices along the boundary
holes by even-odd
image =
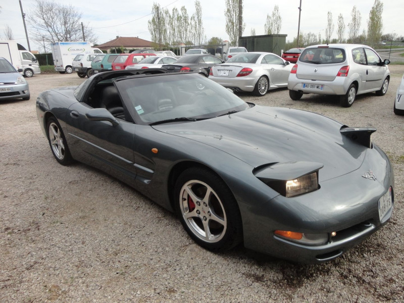
[[[325,262],[392,214],[394,177],[375,129],[245,103],[196,73],[104,72],[42,92],[36,109],[60,164],[126,182],[210,250],[243,243]]]

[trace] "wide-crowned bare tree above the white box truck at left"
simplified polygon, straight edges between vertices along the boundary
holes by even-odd
[[[28,15],[32,38],[42,43],[58,41],[82,41],[81,13],[72,5],[64,6],[52,1],[36,0]],[[91,28],[84,26],[86,41],[96,42]]]

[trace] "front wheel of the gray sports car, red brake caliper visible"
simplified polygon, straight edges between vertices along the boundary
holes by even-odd
[[[236,200],[223,180],[210,170],[185,170],[176,181],[174,201],[184,229],[200,246],[226,250],[242,241]]]

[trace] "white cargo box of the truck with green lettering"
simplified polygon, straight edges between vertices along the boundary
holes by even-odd
[[[95,49],[102,53],[98,48],[91,48],[91,43],[87,41],[55,42],[51,46],[55,70],[61,74],[72,73],[72,62],[78,54],[95,53]]]

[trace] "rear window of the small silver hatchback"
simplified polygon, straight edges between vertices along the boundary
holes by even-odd
[[[299,61],[311,64],[342,63],[345,59],[344,49],[328,46],[306,48],[299,56]]]

